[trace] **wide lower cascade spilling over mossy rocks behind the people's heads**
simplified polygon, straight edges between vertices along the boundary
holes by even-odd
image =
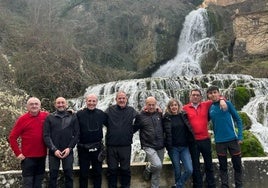
[[[255,97],[243,108],[243,111],[247,112],[253,119],[252,132],[256,133],[255,135],[261,141],[265,151],[268,152],[268,79],[266,78],[253,78],[240,74],[207,74],[191,78],[178,76],[176,78],[157,77],[122,80],[90,86],[86,89],[84,97],[90,93],[98,95],[97,108],[105,110],[110,104],[115,104],[116,92],[123,90],[128,94],[128,105],[133,106],[137,111],[140,111],[144,106],[148,96],[155,96],[158,105],[164,110],[171,97],[177,98],[185,104],[188,102],[191,89],[200,88],[203,95],[206,96],[205,89],[210,85],[218,85],[221,93],[227,98],[232,98],[234,88],[238,86],[254,91]],[[70,99],[69,103],[75,110],[79,110],[85,106],[84,97]],[[136,133],[133,137],[131,161],[144,161],[144,159],[145,153],[140,150],[139,135]]]

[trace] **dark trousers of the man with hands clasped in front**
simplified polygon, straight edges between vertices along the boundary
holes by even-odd
[[[71,152],[66,158],[60,159],[54,155],[49,155],[49,188],[57,188],[57,178],[59,174],[60,162],[64,173],[65,188],[73,188],[73,153]]]

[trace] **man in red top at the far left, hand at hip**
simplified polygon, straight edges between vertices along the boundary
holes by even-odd
[[[36,97],[27,101],[28,112],[16,121],[9,135],[9,143],[21,161],[23,188],[41,188],[45,173],[47,149],[43,141],[43,122],[48,112],[40,111]],[[18,142],[21,139],[21,144]]]

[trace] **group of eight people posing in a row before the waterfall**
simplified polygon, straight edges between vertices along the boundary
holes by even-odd
[[[174,169],[175,187],[185,186],[192,176],[193,187],[203,187],[200,154],[205,164],[207,187],[216,187],[208,122],[212,121],[216,152],[220,164],[221,187],[229,187],[227,151],[235,171],[235,185],[242,187],[240,143],[242,122],[233,105],[220,95],[216,86],[207,90],[210,100],[202,102],[199,89],[190,91],[190,103],[182,106],[171,99],[164,113],[157,100],[149,96],[141,112],[128,106],[124,91],[116,94],[115,105],[105,111],[96,108],[98,97],[86,96],[86,108],[74,113],[67,110],[63,97],[55,100],[56,111],[41,111],[41,102],[31,97],[28,112],[18,118],[9,142],[21,160],[23,188],[41,188],[45,173],[47,148],[49,150],[49,187],[57,187],[60,164],[65,177],[65,187],[73,187],[73,148],[77,145],[80,166],[80,188],[88,187],[89,167],[92,167],[93,186],[102,186],[103,126],[106,126],[105,146],[107,155],[108,187],[131,185],[131,144],[133,134],[139,131],[141,147],[146,153],[147,165],[143,177],[151,180],[151,187],[158,188],[165,148]],[[235,124],[238,132],[235,130]],[[21,139],[21,142],[19,139]],[[181,163],[183,169],[181,168]]]

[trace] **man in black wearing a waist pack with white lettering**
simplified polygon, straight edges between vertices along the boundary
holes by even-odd
[[[96,108],[98,98],[95,94],[86,97],[87,108],[77,112],[80,138],[77,144],[80,166],[80,188],[88,187],[89,166],[92,165],[94,188],[101,188],[102,161],[98,160],[102,150],[103,125],[106,114]]]

